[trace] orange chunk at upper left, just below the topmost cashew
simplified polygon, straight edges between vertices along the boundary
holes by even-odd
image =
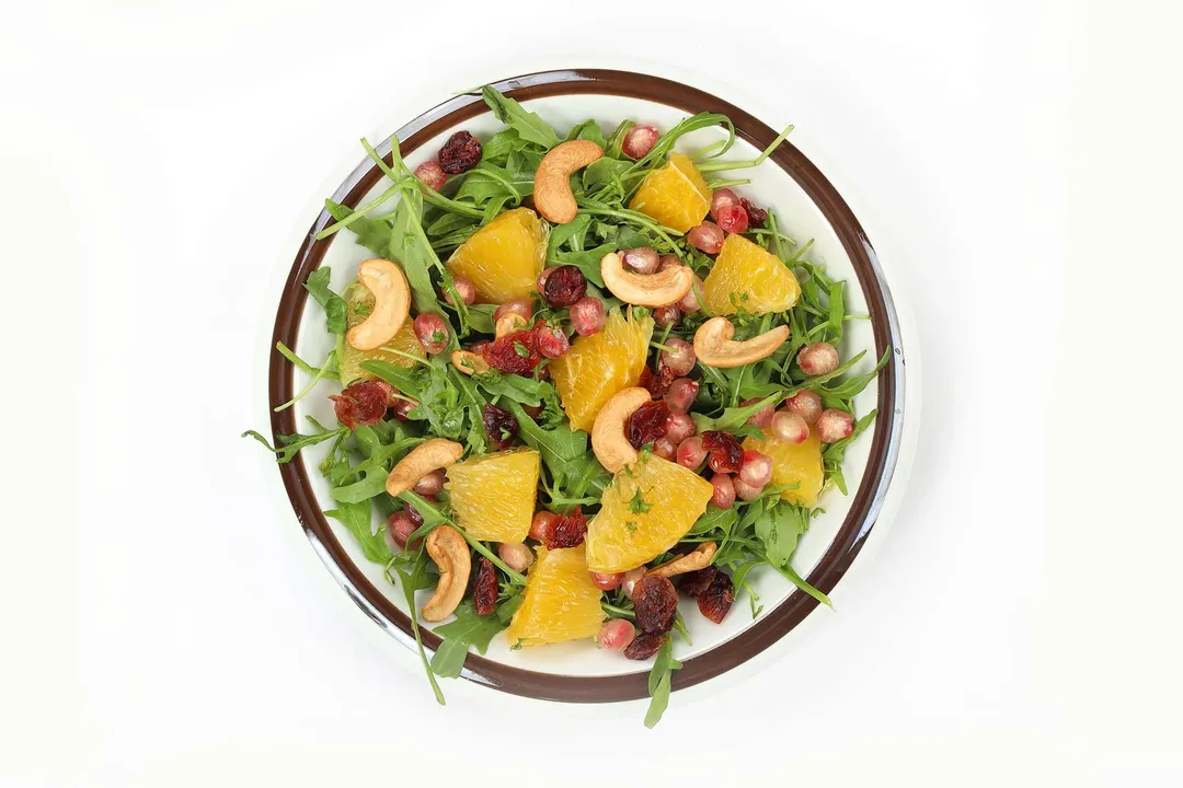
[[[525,298],[547,261],[547,235],[529,208],[506,210],[453,252],[447,268],[472,280],[480,304]]]

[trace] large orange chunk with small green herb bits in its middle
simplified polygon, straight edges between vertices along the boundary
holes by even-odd
[[[686,535],[713,489],[694,471],[655,455],[625,468],[588,523],[588,568],[627,572],[648,564]]]

